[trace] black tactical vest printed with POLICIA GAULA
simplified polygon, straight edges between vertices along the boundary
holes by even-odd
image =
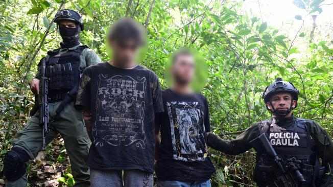
[[[263,121],[261,124],[263,126],[260,128],[260,134],[267,130],[272,147],[283,161],[293,157],[300,160],[299,170],[306,182],[300,183],[299,186],[314,186],[314,179],[316,178],[314,175],[316,175],[315,170],[319,159],[310,132],[308,132],[305,125],[305,120],[297,119],[293,125],[286,128],[277,126],[271,120]],[[266,127],[268,125],[268,129],[264,129],[265,125]],[[257,152],[254,180],[259,186],[266,186],[277,179],[273,171],[267,171],[267,168],[272,165],[274,165],[274,162],[270,156]]]

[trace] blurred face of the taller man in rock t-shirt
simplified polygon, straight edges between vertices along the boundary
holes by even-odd
[[[110,46],[114,60],[121,63],[134,62],[139,48],[135,40],[132,39],[124,42],[110,41]]]

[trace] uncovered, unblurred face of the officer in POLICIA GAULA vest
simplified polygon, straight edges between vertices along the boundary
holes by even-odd
[[[291,105],[293,108],[295,108],[296,101],[293,100],[291,93],[280,92],[273,95],[271,97],[271,101],[266,104],[270,110],[278,110],[281,112],[286,112],[287,110],[289,110]]]

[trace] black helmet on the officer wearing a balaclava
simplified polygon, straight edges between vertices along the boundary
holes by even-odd
[[[81,31],[83,31],[84,29],[84,25],[83,25],[83,19],[80,13],[71,10],[71,9],[64,9],[64,10],[59,10],[56,13],[56,16],[54,18],[54,22],[59,24],[60,20],[71,20],[76,22],[77,24],[80,25],[81,27]]]

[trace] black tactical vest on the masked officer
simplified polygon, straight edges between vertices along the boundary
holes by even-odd
[[[49,79],[49,98],[56,102],[63,100],[66,93],[80,81],[80,54],[86,45],[81,45],[67,53],[59,53],[61,49],[47,52],[46,76]]]

